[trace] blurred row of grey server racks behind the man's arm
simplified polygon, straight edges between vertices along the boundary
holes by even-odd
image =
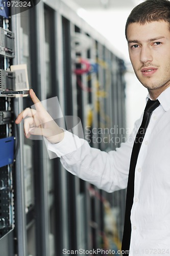
[[[121,57],[62,0],[40,1],[13,15],[9,24],[15,36],[15,58],[5,62],[4,69],[27,63],[31,87],[41,100],[57,96],[64,116],[81,118],[91,146],[114,149],[110,134],[99,134],[99,129],[126,126]],[[1,57],[2,63],[5,58]],[[15,115],[32,105],[30,98],[0,100],[11,101]],[[92,134],[93,129],[98,132]],[[12,126],[12,134],[19,144],[12,170],[15,223],[0,240],[0,256],[58,256],[64,248],[109,249],[105,241],[114,240],[115,230],[111,235],[106,230],[108,204],[109,209],[119,210],[116,236],[121,240],[125,191],[108,194],[70,175],[58,158],[48,158],[43,140],[24,138],[23,124]],[[116,146],[122,135],[115,130]],[[117,241],[112,241],[115,247]]]

